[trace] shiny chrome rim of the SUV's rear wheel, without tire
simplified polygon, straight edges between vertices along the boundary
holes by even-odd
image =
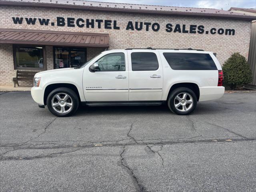
[[[174,98],[174,106],[178,111],[188,111],[192,108],[193,106],[193,98],[190,94],[188,93],[179,93],[176,95]]]

